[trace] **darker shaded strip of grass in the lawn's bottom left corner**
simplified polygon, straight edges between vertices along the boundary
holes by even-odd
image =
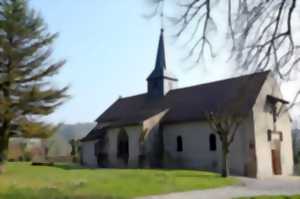
[[[0,194],[0,199],[123,199],[120,197],[112,196],[92,196],[92,195],[72,195],[63,193],[56,188],[42,188],[42,189],[29,189],[29,188],[10,188],[6,193]]]

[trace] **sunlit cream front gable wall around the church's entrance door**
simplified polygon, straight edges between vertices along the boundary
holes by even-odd
[[[269,76],[253,107],[255,142],[257,156],[257,177],[264,178],[273,175],[271,142],[268,141],[268,129],[273,130],[273,116],[270,107],[266,106],[267,95],[282,98],[279,86]],[[283,175],[293,173],[293,147],[291,121],[288,112],[281,114],[277,121],[277,130],[283,133],[281,142],[281,167]]]

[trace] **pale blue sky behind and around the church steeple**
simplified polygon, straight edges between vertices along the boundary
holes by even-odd
[[[60,34],[53,60],[67,59],[55,84],[70,85],[72,98],[49,120],[92,122],[119,96],[146,92],[160,20],[144,17],[150,10],[144,0],[31,0],[30,5],[40,11],[49,31]],[[226,44],[219,46],[218,58],[190,69],[192,64],[183,59],[185,48],[172,37],[174,30],[165,29],[167,67],[180,87],[233,75]]]

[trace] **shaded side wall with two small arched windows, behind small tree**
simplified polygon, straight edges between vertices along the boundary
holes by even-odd
[[[253,137],[251,117],[245,120],[231,146],[230,165],[234,174],[244,175],[248,161],[248,142]],[[213,133],[206,122],[190,122],[164,126],[165,166],[220,171],[221,143],[217,136],[217,151],[210,151],[209,136]],[[177,152],[177,136],[182,136],[183,151]]]

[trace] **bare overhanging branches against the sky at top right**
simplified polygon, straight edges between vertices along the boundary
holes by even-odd
[[[153,14],[158,13],[163,5],[175,4],[178,12],[166,17],[175,25],[177,37],[189,36],[188,54],[196,56],[197,62],[204,55],[214,56],[210,33],[216,31],[225,18],[231,57],[235,58],[239,69],[271,69],[285,80],[297,69],[300,53],[293,36],[296,0],[149,1],[155,6]]]

